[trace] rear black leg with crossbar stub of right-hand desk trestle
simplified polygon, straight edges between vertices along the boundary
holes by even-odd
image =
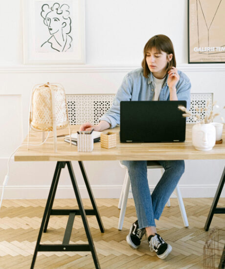
[[[222,177],[220,179],[220,183],[219,183],[219,185],[217,187],[217,191],[216,191],[214,200],[212,202],[212,205],[211,205],[211,208],[210,208],[210,211],[209,211],[209,214],[208,214],[208,218],[207,218],[206,223],[204,225],[204,229],[206,231],[208,231],[208,229],[209,229],[209,226],[211,224],[211,221],[212,221],[212,218],[213,218],[214,214],[224,214],[225,213],[225,208],[216,207],[217,203],[218,203],[218,201],[220,199],[220,195],[222,193],[224,183],[225,183],[225,168],[224,168],[224,172],[222,174]]]

